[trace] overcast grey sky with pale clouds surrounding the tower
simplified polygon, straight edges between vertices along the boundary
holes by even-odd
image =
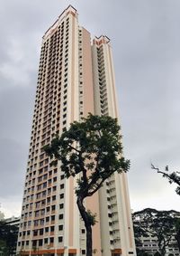
[[[179,0],[1,0],[0,210],[21,213],[41,37],[70,4],[112,41],[131,208],[180,211],[175,186],[150,169],[180,170]]]

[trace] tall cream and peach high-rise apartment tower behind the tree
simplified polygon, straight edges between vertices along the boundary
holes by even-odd
[[[44,34],[17,251],[85,255],[85,226],[76,207],[76,179],[50,166],[43,147],[88,112],[118,117],[112,50],[106,36],[79,26],[71,5]],[[97,214],[94,255],[136,255],[125,174],[114,174],[86,201]]]

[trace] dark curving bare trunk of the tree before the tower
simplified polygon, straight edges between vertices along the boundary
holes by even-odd
[[[88,218],[88,213],[85,211],[85,206],[83,205],[83,196],[77,196],[76,204],[78,206],[79,212],[83,221],[85,223],[86,229],[86,256],[93,256],[93,239],[92,239],[92,227]]]

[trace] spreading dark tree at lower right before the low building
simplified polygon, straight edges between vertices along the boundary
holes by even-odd
[[[174,211],[157,211],[151,208],[133,213],[134,225],[139,227],[141,233],[157,238],[158,251],[161,256],[166,255],[166,247],[175,234],[175,218],[172,213]],[[139,235],[141,235],[140,232]]]

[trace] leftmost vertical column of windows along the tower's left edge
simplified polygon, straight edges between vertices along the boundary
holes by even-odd
[[[18,238],[18,246],[22,245],[22,249],[29,248],[29,240],[31,237],[32,228],[32,215],[33,215],[33,200],[35,197],[35,182],[37,173],[37,160],[39,153],[39,141],[40,141],[40,122],[41,122],[41,110],[42,101],[44,95],[44,81],[46,73],[46,63],[47,63],[47,52],[48,45],[44,43],[40,52],[40,68],[38,76],[38,87],[36,91],[35,109],[33,115],[32,131],[31,131],[31,144],[29,151],[29,161],[27,166],[27,174],[25,180],[25,189],[23,196],[23,209],[20,223],[20,232]]]

